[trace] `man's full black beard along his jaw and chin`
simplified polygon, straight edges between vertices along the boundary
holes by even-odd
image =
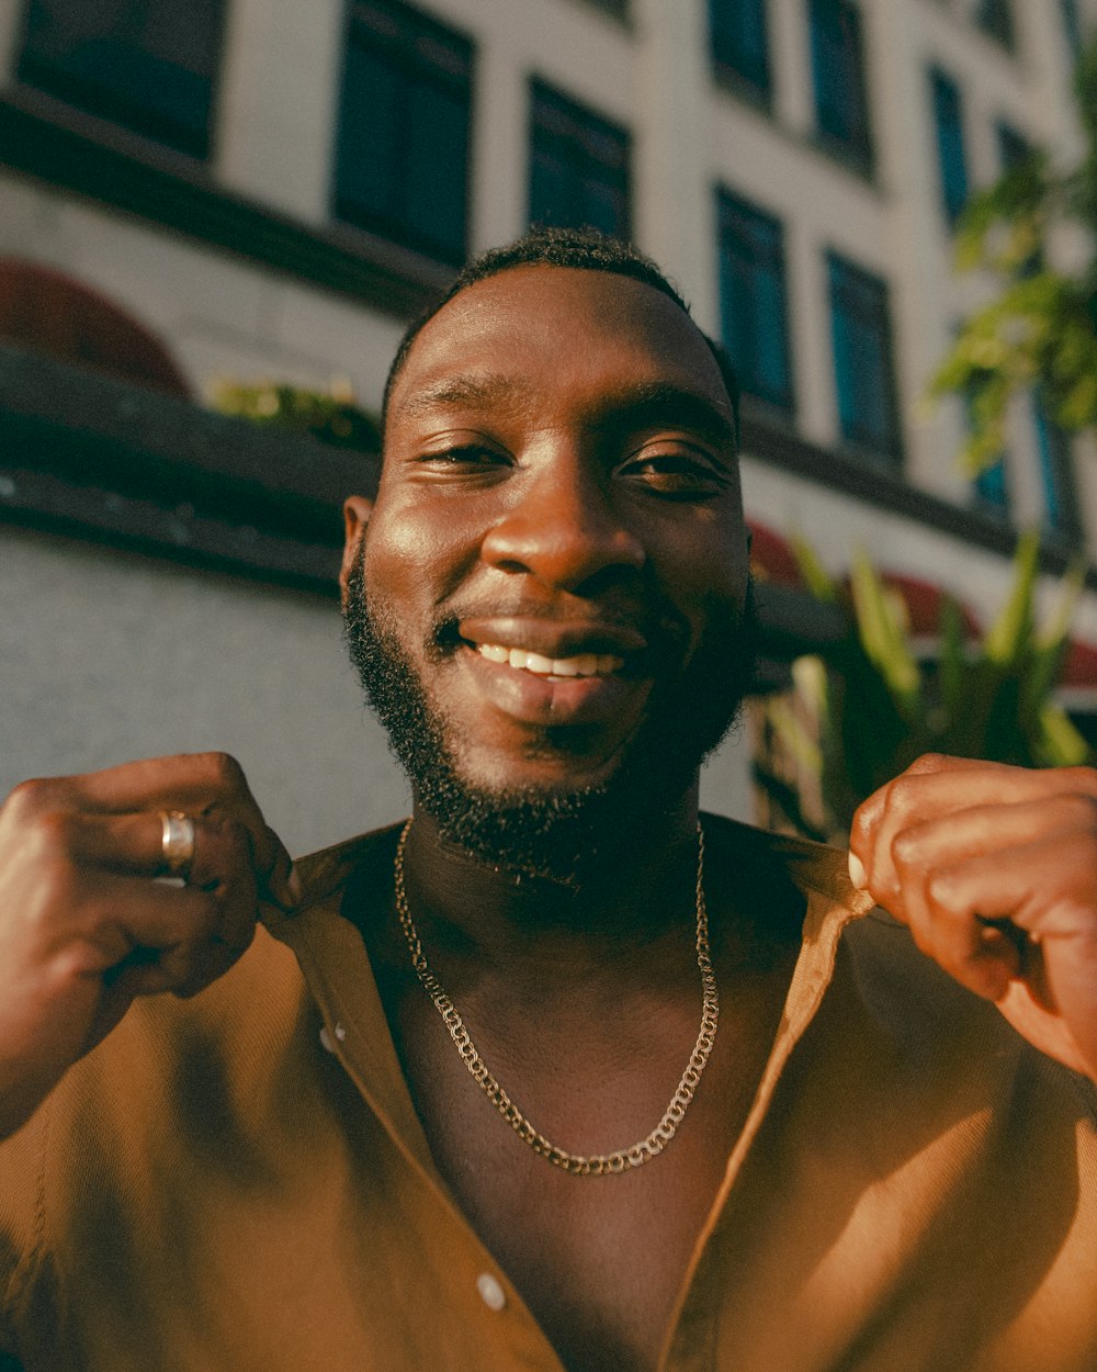
[[[688,667],[653,687],[643,724],[609,778],[572,790],[488,789],[458,761],[461,724],[432,708],[394,626],[370,605],[359,549],[343,626],[366,698],[388,733],[417,803],[442,838],[511,873],[575,886],[635,858],[680,805],[697,771],[735,723],[754,675],[753,587],[738,616],[710,617]],[[443,649],[432,645],[435,660]]]

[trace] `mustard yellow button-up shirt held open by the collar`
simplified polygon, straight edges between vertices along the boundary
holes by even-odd
[[[26,1372],[559,1372],[437,1176],[340,915],[367,841],[300,864],[296,916],[195,1000],[134,1004],[0,1146]],[[773,844],[802,951],[666,1372],[1094,1372],[1097,1093],[867,912],[843,855]]]

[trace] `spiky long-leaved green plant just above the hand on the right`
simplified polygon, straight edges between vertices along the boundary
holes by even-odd
[[[980,642],[965,641],[959,605],[942,602],[931,664],[915,656],[901,595],[863,553],[846,587],[806,543],[794,547],[812,594],[846,617],[825,660],[799,659],[791,694],[761,707],[780,757],[758,761],[756,779],[801,833],[843,837],[861,800],[926,752],[1041,767],[1089,760],[1053,700],[1082,569],[1068,573],[1054,613],[1038,623],[1035,532],[1020,538],[1012,589]]]

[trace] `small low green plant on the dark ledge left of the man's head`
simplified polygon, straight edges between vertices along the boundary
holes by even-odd
[[[221,414],[310,434],[333,447],[363,453],[378,453],[381,449],[376,417],[355,403],[346,381],[333,381],[325,392],[287,381],[222,379],[211,387],[210,403]]]

